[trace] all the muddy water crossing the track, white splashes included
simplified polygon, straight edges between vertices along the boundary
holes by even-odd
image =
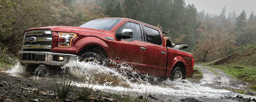
[[[220,87],[229,86],[231,85],[230,78],[225,75],[223,78],[219,78],[219,76],[210,73],[201,66],[198,67],[202,68],[204,74],[200,83],[191,83],[187,80],[162,80],[161,78],[151,75],[140,74],[125,64],[117,64],[117,66],[120,66],[118,70],[94,63],[70,61],[61,68],[63,71],[69,72],[75,76],[77,80],[74,83],[78,87],[90,85],[95,90],[98,89],[105,92],[118,94],[131,93],[135,96],[150,92],[152,95],[161,98],[156,101],[170,101],[174,98],[181,99],[184,97],[196,97],[201,100],[206,98],[206,101],[227,101],[226,99],[221,98],[225,96],[234,97],[239,94],[230,92],[228,90],[211,87],[211,85],[218,85]],[[52,80],[50,77],[51,74],[45,71],[46,69],[47,68],[45,66],[39,66],[33,76],[29,77],[24,68],[17,64],[11,70],[6,72],[17,77]],[[42,72],[46,72],[46,75],[43,77],[39,75]],[[232,87],[235,86],[233,85]],[[239,95],[255,98],[253,96],[243,94]]]

